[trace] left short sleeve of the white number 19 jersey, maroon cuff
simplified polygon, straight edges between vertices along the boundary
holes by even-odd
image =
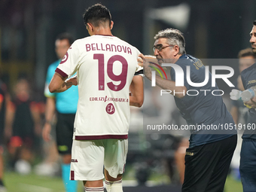
[[[63,57],[59,66],[56,68],[55,72],[62,75],[62,77],[70,78],[75,72],[78,71],[79,61],[80,61],[80,53],[79,53],[79,44],[75,41],[69,50],[67,51],[66,55]]]

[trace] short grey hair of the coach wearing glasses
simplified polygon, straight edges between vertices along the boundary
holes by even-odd
[[[164,29],[157,33],[157,35],[154,36],[154,39],[157,40],[158,38],[166,38],[168,44],[175,45],[177,44],[179,47],[179,54],[185,54],[185,38],[183,36],[183,33],[180,32],[178,29]]]

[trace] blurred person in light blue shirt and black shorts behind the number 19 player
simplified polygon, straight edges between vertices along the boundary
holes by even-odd
[[[57,150],[62,157],[62,180],[66,192],[73,192],[77,189],[77,181],[69,180],[72,136],[74,132],[75,113],[78,105],[78,87],[72,86],[64,93],[50,93],[48,85],[59,66],[60,59],[65,59],[65,54],[72,45],[74,39],[69,33],[59,34],[55,41],[55,51],[58,57],[47,70],[47,78],[44,89],[44,96],[47,97],[45,108],[45,123],[42,132],[44,141],[51,141],[50,132],[52,129],[53,116],[56,113],[56,143]]]

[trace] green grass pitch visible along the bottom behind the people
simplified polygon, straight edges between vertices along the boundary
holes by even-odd
[[[5,184],[8,187],[8,192],[65,192],[60,177],[19,175],[16,172],[6,172]],[[78,186],[78,192],[82,192],[82,183],[79,183]],[[241,182],[235,181],[229,176],[224,192],[242,192]]]

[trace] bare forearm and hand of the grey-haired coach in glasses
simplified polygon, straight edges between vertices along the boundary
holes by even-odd
[[[152,59],[152,56],[144,56],[143,54],[140,54],[139,57],[141,57],[143,62],[143,69],[144,69],[144,75],[146,78],[148,78],[150,81],[152,81],[152,73],[151,73],[151,67],[149,62],[146,62],[146,59]],[[138,60],[139,61],[139,60]],[[157,86],[161,87],[163,90],[170,90],[171,94],[175,97],[181,99],[183,98],[187,93],[187,87],[176,87],[175,81],[170,81],[168,79],[162,79],[160,76],[156,75],[156,84]]]

